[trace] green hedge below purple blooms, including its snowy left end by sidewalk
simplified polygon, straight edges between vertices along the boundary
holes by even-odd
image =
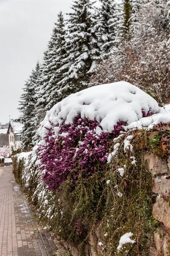
[[[41,170],[37,169],[37,148],[32,154],[16,157],[14,173],[21,177],[24,191],[36,205],[42,227],[77,247],[79,255],[85,253],[89,234],[95,239],[94,250],[104,256],[124,256],[132,248],[131,241],[135,245],[140,241],[140,250],[147,253],[145,232],[153,232],[156,223],[152,218],[152,177],[142,162],[138,144],[141,140],[144,148],[144,131],[122,134],[114,141],[108,139],[111,152],[119,144],[110,163],[95,162],[97,169],[91,179],[85,179],[80,172],[74,186],[68,177],[54,191],[48,189]],[[136,225],[139,215],[140,225]],[[133,234],[133,240],[122,242],[127,232]],[[133,255],[137,250],[135,246]]]

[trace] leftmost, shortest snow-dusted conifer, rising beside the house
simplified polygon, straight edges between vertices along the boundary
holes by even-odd
[[[22,149],[28,151],[32,148],[32,138],[35,135],[35,90],[39,76],[40,64],[37,62],[35,70],[32,70],[31,76],[26,81],[23,88],[24,93],[20,96],[19,111],[21,113],[20,122],[23,124],[22,131]]]

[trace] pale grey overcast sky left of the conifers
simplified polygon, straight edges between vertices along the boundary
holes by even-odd
[[[0,122],[17,118],[24,81],[42,60],[60,10],[72,0],[0,0]]]

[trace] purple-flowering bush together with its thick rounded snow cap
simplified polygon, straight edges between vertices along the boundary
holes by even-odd
[[[107,162],[111,138],[122,126],[159,112],[157,102],[127,82],[103,84],[71,94],[47,113],[39,129],[42,180],[55,190],[68,177],[75,185]],[[97,163],[100,163],[97,166]]]

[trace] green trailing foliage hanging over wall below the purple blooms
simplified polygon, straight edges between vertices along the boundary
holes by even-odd
[[[54,233],[65,241],[79,248],[84,255],[84,246],[89,234],[96,237],[96,226],[104,244],[101,255],[149,255],[147,234],[154,231],[157,221],[152,216],[151,174],[146,172],[143,153],[147,150],[145,131],[136,132],[133,139],[133,153],[124,152],[124,135],[116,141],[120,143],[119,155],[110,164],[103,164],[102,172],[97,171],[90,180],[85,180],[79,174],[75,187],[69,179],[59,187],[57,192],[51,192],[46,199],[53,205],[50,216],[40,210],[40,220],[48,223]],[[111,151],[115,143],[110,142]],[[136,166],[132,164],[131,156],[136,158]],[[125,167],[124,167],[125,166]],[[96,169],[99,166],[96,165]],[[123,177],[118,169],[124,168]],[[106,181],[110,180],[107,184]],[[120,197],[119,193],[122,193]],[[45,208],[48,211],[48,206]],[[125,244],[119,251],[119,239],[125,233],[132,232],[134,244]],[[106,235],[107,234],[107,235]],[[96,251],[99,248],[96,237]]]

